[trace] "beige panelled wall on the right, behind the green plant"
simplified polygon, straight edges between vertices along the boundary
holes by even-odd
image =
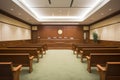
[[[99,40],[120,41],[120,15],[90,26],[90,39],[93,32],[98,34]]]

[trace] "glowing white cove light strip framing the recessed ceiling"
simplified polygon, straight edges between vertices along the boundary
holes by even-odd
[[[90,15],[95,13],[98,9],[100,9],[102,6],[104,6],[106,3],[108,3],[110,0],[96,0],[94,2],[94,5],[92,4],[92,7],[86,11],[82,15],[78,16],[45,16],[40,13],[37,13],[33,8],[30,7],[30,4],[28,4],[28,0],[12,0],[14,3],[16,3],[18,6],[23,8],[26,12],[28,12],[32,17],[34,17],[39,22],[42,21],[64,21],[64,22],[71,22],[71,21],[79,21],[82,22],[85,19],[87,19]]]

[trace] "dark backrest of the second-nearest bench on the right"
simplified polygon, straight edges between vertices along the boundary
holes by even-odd
[[[106,62],[119,62],[120,53],[90,53],[91,63],[105,66]]]

